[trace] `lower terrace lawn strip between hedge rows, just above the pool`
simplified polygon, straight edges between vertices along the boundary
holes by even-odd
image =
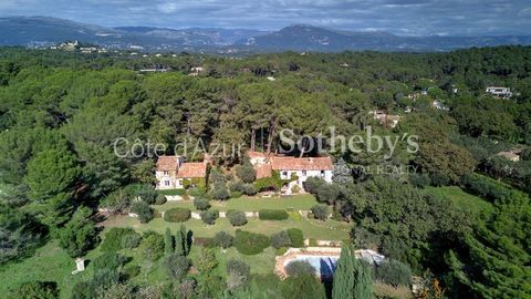
[[[323,240],[344,240],[348,238],[348,231],[352,225],[334,220],[319,221],[314,219],[288,219],[281,221],[260,220],[249,218],[248,224],[241,227],[233,227],[229,219],[219,218],[215,225],[207,226],[201,220],[189,219],[185,223],[186,227],[194,231],[196,237],[214,237],[216,233],[225,230],[235,235],[236,229],[240,228],[253,233],[272,235],[288,228],[300,228],[304,238],[316,238]],[[105,221],[105,227],[133,227],[138,231],[154,230],[164,234],[166,228],[171,233],[177,231],[180,224],[167,223],[162,218],[155,218],[148,224],[140,224],[136,218],[128,216],[115,216]]]

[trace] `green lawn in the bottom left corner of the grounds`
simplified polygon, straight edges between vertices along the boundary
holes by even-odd
[[[93,251],[87,258],[97,255],[98,252]],[[61,298],[70,298],[72,287],[92,276],[90,266],[75,276],[72,275],[73,270],[75,270],[74,259],[58,246],[56,240],[50,241],[39,248],[32,257],[0,267],[0,298],[6,298],[8,290],[33,280],[55,281],[61,290]]]

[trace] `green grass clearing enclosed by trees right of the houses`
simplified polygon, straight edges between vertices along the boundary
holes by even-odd
[[[426,187],[424,189],[427,194],[439,196],[442,198],[448,198],[451,200],[458,208],[464,210],[471,212],[473,214],[479,214],[481,212],[492,210],[492,204],[478,197],[466,193],[457,186],[446,186],[446,187]]]

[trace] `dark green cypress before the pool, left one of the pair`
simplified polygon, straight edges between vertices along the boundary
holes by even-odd
[[[341,249],[341,256],[334,274],[333,299],[353,298],[353,287],[355,282],[354,259],[352,247],[344,245]]]

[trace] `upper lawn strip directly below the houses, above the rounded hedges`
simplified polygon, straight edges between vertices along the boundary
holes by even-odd
[[[212,208],[218,210],[239,209],[244,212],[254,212],[262,208],[272,209],[310,209],[317,204],[317,200],[310,195],[294,195],[291,197],[248,197],[242,196],[240,198],[231,198],[226,202],[210,200]],[[155,209],[163,212],[174,207],[187,207],[195,210],[194,203],[191,200],[183,202],[168,202],[162,206],[154,206]]]

